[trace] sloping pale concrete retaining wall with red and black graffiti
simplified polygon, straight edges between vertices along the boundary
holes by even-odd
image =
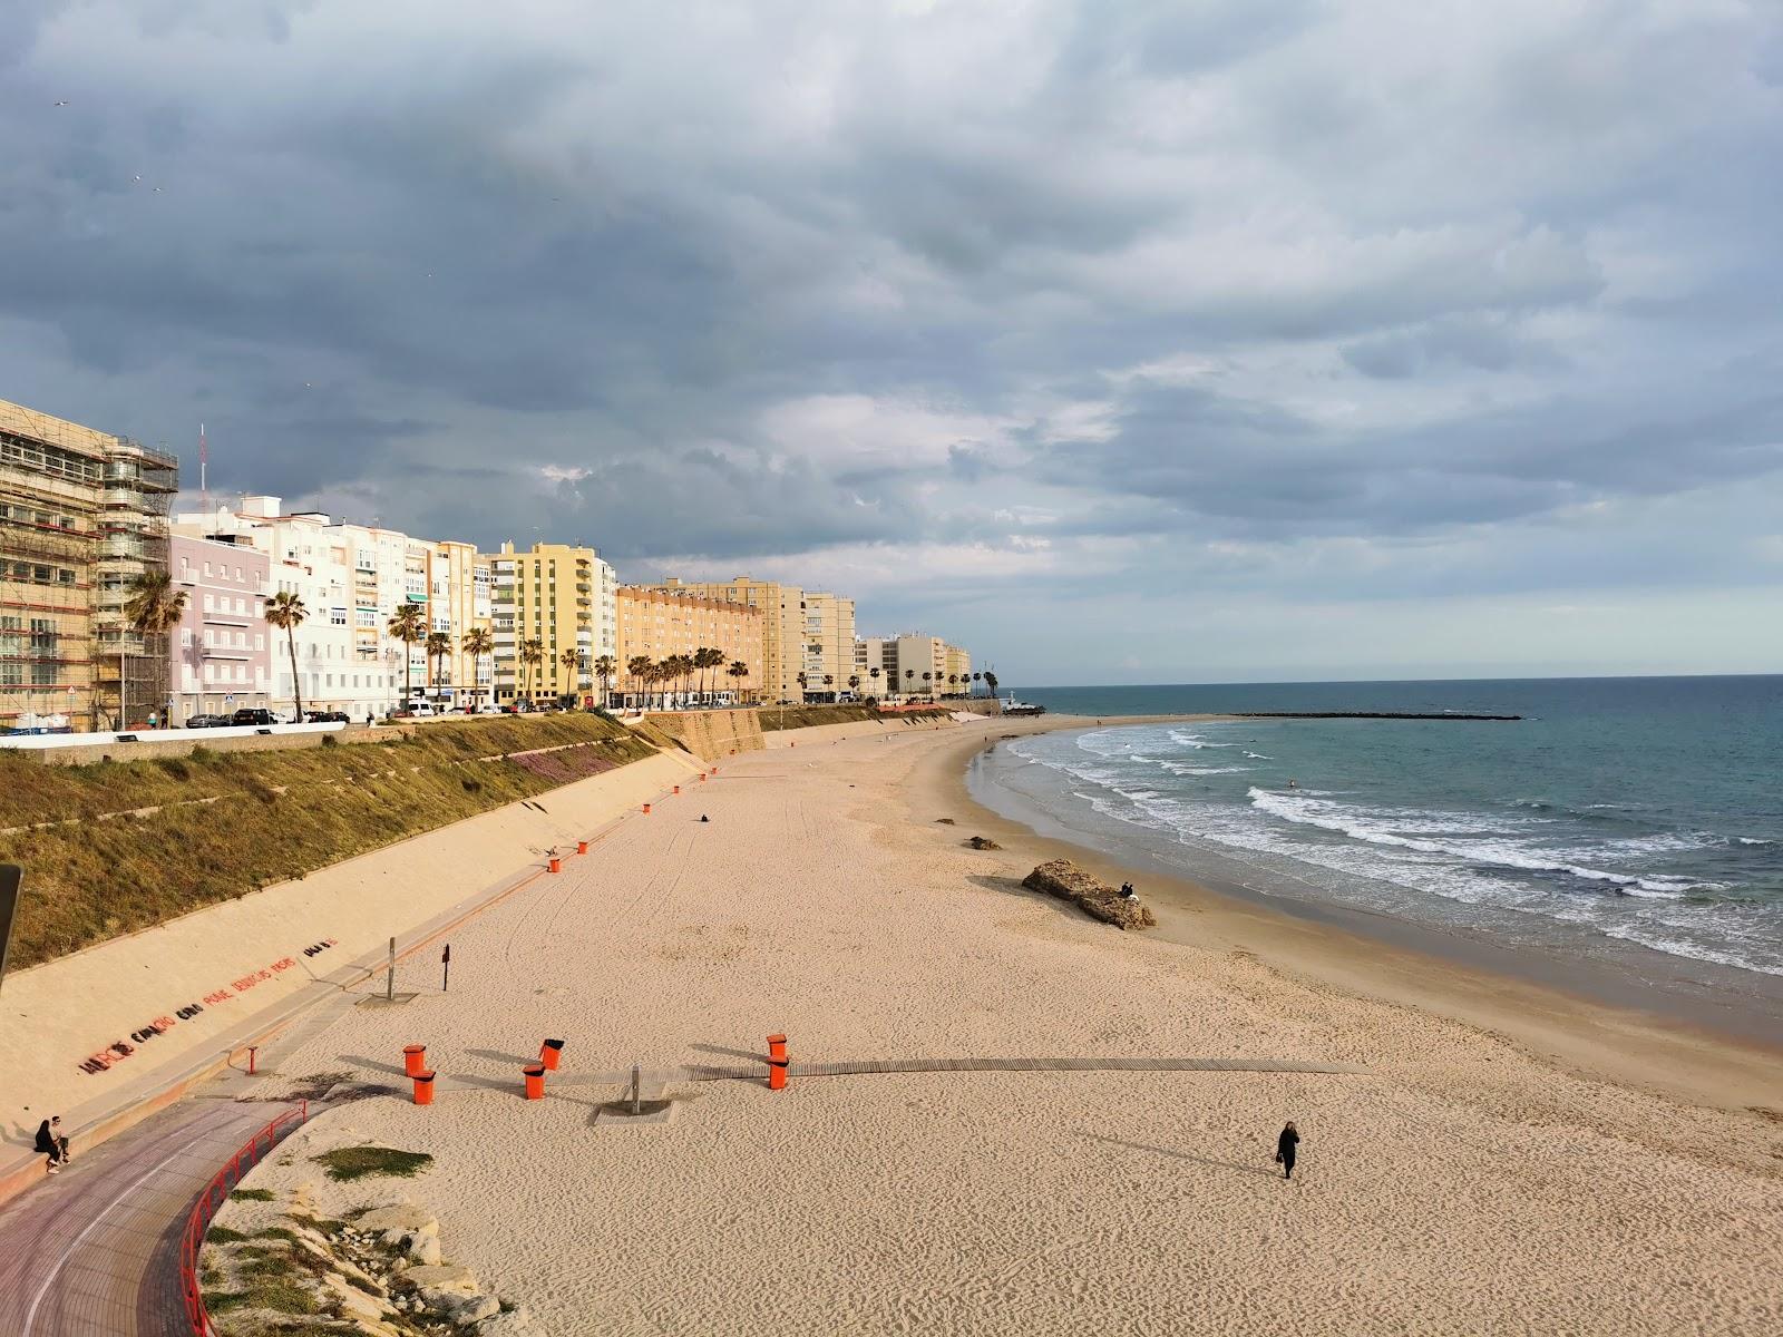
[[[389,938],[542,866],[553,847],[574,849],[694,772],[692,759],[658,754],[9,973],[0,988],[0,1189],[29,1161],[39,1120],[61,1114],[80,1143],[125,1127],[125,1114],[141,1118],[207,1061],[226,1061],[250,1016],[339,979]],[[20,1182],[32,1178],[27,1164]]]

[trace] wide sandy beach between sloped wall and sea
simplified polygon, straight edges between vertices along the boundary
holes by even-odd
[[[961,772],[1057,724],[727,758],[458,929],[451,993],[410,963],[414,1002],[282,1055],[266,1095],[346,1073],[403,1095],[319,1116],[255,1182],[314,1178],[303,1139],[342,1125],[433,1153],[357,1193],[426,1203],[448,1255],[551,1333],[1783,1330],[1774,1055],[1193,886],[1145,936],[1027,893],[1056,849]],[[776,1030],[808,1062],[1366,1071],[690,1082],[633,1125],[596,1120],[617,1086],[576,1084],[745,1064]],[[528,1103],[546,1036],[563,1080]],[[490,1087],[410,1105],[390,1070],[415,1041]]]

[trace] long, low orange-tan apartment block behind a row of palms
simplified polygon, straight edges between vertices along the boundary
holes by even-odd
[[[613,695],[626,706],[642,704],[717,704],[727,706],[752,693],[761,681],[763,613],[733,599],[708,599],[685,590],[656,590],[640,585],[619,586],[619,674]],[[637,658],[663,661],[676,654],[715,649],[724,663],[699,670],[690,683],[649,685],[631,677]],[[731,677],[733,663],[749,672]],[[663,693],[681,692],[685,699],[663,701]]]

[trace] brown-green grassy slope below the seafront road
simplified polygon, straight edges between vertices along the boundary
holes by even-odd
[[[583,747],[476,759],[565,743]],[[86,818],[0,834],[0,863],[25,866],[11,964],[50,961],[651,752],[620,724],[549,715],[428,724],[414,738],[294,752],[91,767],[0,754],[0,829]],[[94,820],[155,804],[173,806]]]

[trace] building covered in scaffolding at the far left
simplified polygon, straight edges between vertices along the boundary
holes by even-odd
[[[168,569],[177,490],[173,456],[0,399],[0,729],[166,711],[168,638],[123,606]]]

